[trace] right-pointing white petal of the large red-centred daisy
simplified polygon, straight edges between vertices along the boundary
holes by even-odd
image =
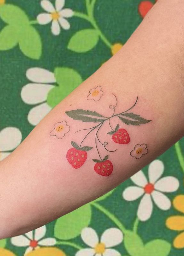
[[[155,189],[162,192],[174,192],[179,188],[179,181],[172,176],[164,177],[155,183]]]

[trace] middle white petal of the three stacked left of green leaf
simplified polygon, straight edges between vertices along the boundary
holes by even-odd
[[[42,103],[47,100],[48,92],[54,88],[49,84],[26,84],[21,91],[21,98],[27,104]]]

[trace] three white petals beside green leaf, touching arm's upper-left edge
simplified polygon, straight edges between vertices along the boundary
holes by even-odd
[[[21,98],[27,104],[36,105],[29,111],[28,121],[37,125],[51,110],[46,100],[49,91],[55,87],[51,84],[56,79],[54,73],[43,68],[29,68],[26,76],[32,83],[22,88]]]

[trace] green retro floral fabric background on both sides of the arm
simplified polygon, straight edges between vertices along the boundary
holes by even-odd
[[[123,46],[154,4],[0,0],[1,160]],[[183,255],[183,152],[180,140],[107,195],[1,240],[0,255]]]

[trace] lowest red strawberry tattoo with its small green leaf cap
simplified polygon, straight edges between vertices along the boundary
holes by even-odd
[[[97,162],[94,166],[94,170],[96,173],[100,174],[101,176],[109,176],[113,171],[113,165],[111,161],[107,159],[108,159],[108,156],[105,156],[102,161],[93,159],[94,162]]]

